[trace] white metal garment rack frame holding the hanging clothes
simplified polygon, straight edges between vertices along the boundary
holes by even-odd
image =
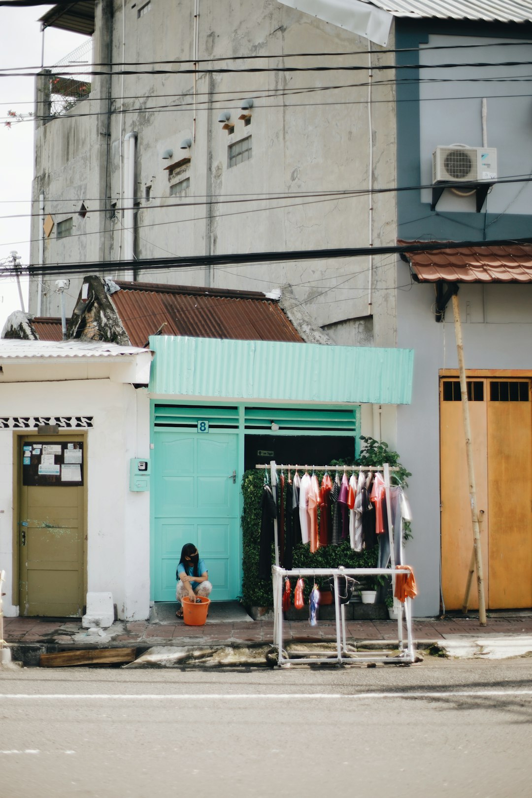
[[[274,494],[274,500],[277,502],[277,471],[280,468],[290,469],[291,471],[309,470],[309,466],[303,465],[278,465],[275,460],[270,461],[270,465],[257,464],[255,468],[269,469],[271,488]],[[398,599],[393,599],[394,607],[397,612],[397,638],[399,642],[400,654],[398,657],[385,657],[383,654],[380,656],[361,656],[361,653],[351,652],[348,650],[345,642],[345,605],[340,604],[338,596],[338,577],[339,576],[371,576],[382,575],[392,577],[392,587],[395,593],[396,575],[408,574],[407,568],[400,566],[396,567],[395,562],[395,549],[393,542],[393,527],[392,527],[392,506],[390,503],[390,472],[398,471],[398,468],[393,468],[387,463],[384,466],[356,466],[356,467],[337,467],[331,466],[312,466],[314,471],[342,471],[342,472],[383,472],[384,476],[384,490],[386,492],[386,510],[388,516],[388,535],[390,539],[390,560],[391,568],[293,568],[287,571],[286,568],[280,567],[279,564],[279,543],[278,543],[278,522],[274,519],[274,544],[275,544],[275,564],[272,566],[273,588],[274,588],[274,646],[278,649],[278,666],[287,666],[292,662],[334,662],[338,665],[347,662],[387,662],[389,664],[412,664],[414,662],[414,644],[412,639],[412,604],[411,599],[406,599],[404,602],[404,621],[406,624],[407,641],[406,648],[404,647],[403,636],[403,604]],[[334,579],[334,606],[336,618],[336,633],[337,633],[337,651],[336,654],[327,651],[312,652],[312,651],[297,651],[293,652],[298,655],[297,659],[290,660],[288,654],[282,648],[282,580],[284,577],[299,576],[333,576]],[[322,656],[319,656],[322,654]],[[308,656],[306,656],[308,655]]]

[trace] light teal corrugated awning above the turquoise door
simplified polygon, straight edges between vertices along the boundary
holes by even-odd
[[[158,397],[408,405],[413,350],[152,336]]]

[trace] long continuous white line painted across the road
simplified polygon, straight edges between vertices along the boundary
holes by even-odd
[[[530,690],[424,690],[404,693],[0,693],[2,699],[61,701],[345,701],[362,698],[532,696]]]

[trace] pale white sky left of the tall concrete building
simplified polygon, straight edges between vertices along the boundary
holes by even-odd
[[[6,69],[41,68],[41,23],[49,6],[0,6],[0,263],[11,263],[17,251],[22,265],[30,260],[31,181],[33,180],[33,120],[4,124],[8,111],[27,115],[33,111],[33,77],[11,77]],[[49,28],[44,34],[45,67],[53,66],[76,49],[86,37]],[[31,72],[37,69],[30,69]],[[6,218],[6,217],[15,218]],[[18,217],[18,218],[17,218]],[[28,310],[28,284],[22,280],[22,298]],[[20,310],[14,277],[0,277],[0,330],[14,310]]]

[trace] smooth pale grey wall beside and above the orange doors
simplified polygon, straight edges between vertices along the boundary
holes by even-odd
[[[408,266],[400,263],[397,271],[398,283],[408,282]],[[397,345],[416,351],[412,405],[397,409],[397,448],[412,472],[406,559],[416,571],[420,616],[439,612],[439,369],[458,368],[452,306],[447,321],[436,323],[434,298],[434,286],[414,284],[397,299]],[[532,286],[461,286],[459,303],[467,369],[532,372]]]

